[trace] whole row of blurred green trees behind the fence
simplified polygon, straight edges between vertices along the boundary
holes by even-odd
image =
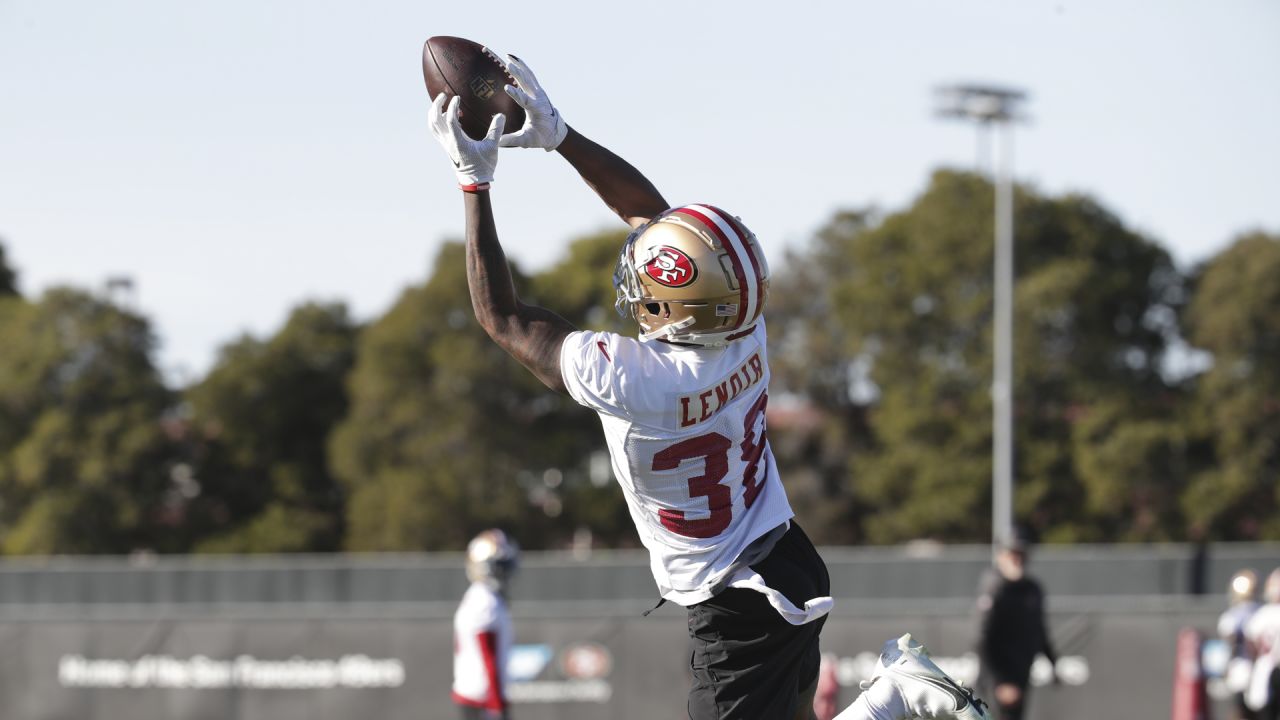
[[[988,539],[992,204],[938,170],[774,251],[769,436],[818,542]],[[1016,519],[1050,542],[1280,539],[1280,236],[1180,269],[1096,199],[1020,186],[1015,213]],[[522,296],[634,333],[623,237],[513,268]],[[457,550],[494,525],[637,544],[595,415],[489,342],[457,242],[383,315],[302,304],[187,387],[155,347],[109,296],[23,297],[0,246],[0,552]]]

